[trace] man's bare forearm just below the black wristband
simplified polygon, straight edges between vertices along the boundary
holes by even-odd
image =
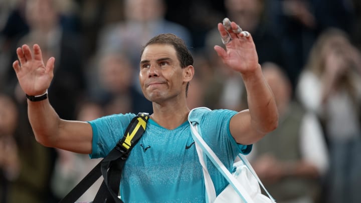
[[[49,100],[36,102],[28,100],[28,117],[36,140],[45,146],[53,146],[58,134],[60,118]]]

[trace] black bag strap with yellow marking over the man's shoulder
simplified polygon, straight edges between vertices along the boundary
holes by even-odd
[[[138,113],[129,123],[121,140],[59,203],[74,203],[103,175],[103,182],[93,203],[121,203],[118,198],[122,168],[130,150],[143,135],[148,113]]]

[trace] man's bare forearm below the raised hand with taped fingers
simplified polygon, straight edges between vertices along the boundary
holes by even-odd
[[[262,134],[274,130],[278,125],[278,111],[273,93],[265,81],[261,66],[251,73],[242,74],[247,90],[251,125]]]

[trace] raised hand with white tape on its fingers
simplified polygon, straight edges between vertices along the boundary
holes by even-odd
[[[243,74],[257,69],[258,56],[252,36],[227,18],[223,22],[223,24],[218,24],[218,31],[226,50],[220,46],[214,47],[223,63]]]

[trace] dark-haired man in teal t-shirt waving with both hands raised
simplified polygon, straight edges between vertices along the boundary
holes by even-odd
[[[200,128],[207,135],[205,141],[231,170],[239,150],[248,153],[252,143],[277,127],[278,113],[252,37],[235,22],[228,20],[225,25],[218,24],[218,29],[226,50],[219,46],[215,50],[226,65],[241,73],[249,110],[205,113],[200,117]],[[33,49],[34,55],[27,45],[18,48],[20,63],[15,61],[13,66],[30,98],[28,114],[36,139],[46,146],[89,153],[92,158],[106,156],[135,114],[90,122],[59,118],[46,99],[55,59],[51,57],[44,65],[40,47]],[[202,166],[187,121],[190,109],[186,97],[194,72],[193,57],[176,36],[161,34],[144,46],[139,80],[143,94],[152,102],[153,114],[123,168],[120,190],[125,202],[205,202]],[[212,163],[208,170],[219,194],[228,182]]]

